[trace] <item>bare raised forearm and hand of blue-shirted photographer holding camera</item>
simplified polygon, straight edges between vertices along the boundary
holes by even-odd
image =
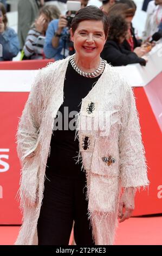
[[[54,48],[57,48],[59,46],[59,40],[60,40],[59,35],[61,35],[62,29],[66,26],[67,26],[66,16],[61,15],[59,19],[57,31],[55,32],[55,35],[53,36],[53,39],[52,39],[52,46]]]

